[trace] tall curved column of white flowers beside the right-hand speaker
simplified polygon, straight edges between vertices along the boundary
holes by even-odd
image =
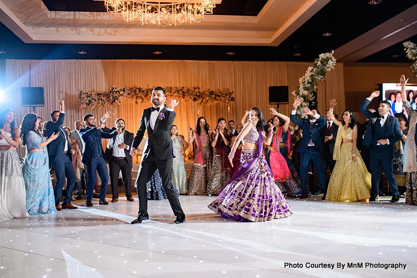
[[[304,115],[304,107],[309,106],[309,102],[313,100],[313,92],[317,89],[317,82],[326,79],[327,72],[335,68],[336,58],[333,57],[334,51],[331,53],[322,53],[319,58],[314,60],[313,66],[310,66],[298,82],[297,90],[293,91],[295,97],[302,99],[298,106],[295,117],[297,119],[307,118]]]

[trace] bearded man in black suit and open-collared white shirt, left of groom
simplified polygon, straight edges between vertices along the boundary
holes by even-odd
[[[122,128],[121,133],[108,141],[106,151],[104,152],[110,172],[110,183],[113,195],[112,203],[119,200],[117,186],[119,184],[120,170],[122,171],[124,187],[126,189],[126,198],[128,201],[133,202],[135,201],[131,194],[133,159],[129,154],[130,146],[133,143],[133,133],[124,129],[125,123],[123,119],[117,119],[115,121],[115,126],[116,127],[113,127],[109,131],[104,130],[111,133],[119,127]]]

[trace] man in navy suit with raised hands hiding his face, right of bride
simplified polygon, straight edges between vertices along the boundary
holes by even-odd
[[[309,193],[307,192],[307,176],[310,161],[313,161],[314,168],[316,168],[320,184],[322,184],[323,187],[324,196],[322,200],[324,200],[327,192],[327,179],[324,173],[323,165],[321,163],[323,148],[321,145],[320,132],[321,129],[326,125],[326,119],[320,115],[317,109],[310,110],[307,107],[304,108],[304,114],[309,116],[309,120],[296,119],[295,113],[297,107],[300,104],[301,99],[295,98],[294,109],[292,110],[290,116],[291,122],[302,128],[302,138],[300,145],[297,149],[297,152],[301,154],[299,174],[301,179],[302,194],[300,196],[300,199],[309,197]]]

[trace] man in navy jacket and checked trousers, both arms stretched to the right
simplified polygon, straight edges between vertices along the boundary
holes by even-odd
[[[85,206],[93,206],[93,190],[94,184],[97,180],[97,173],[101,179],[100,199],[99,204],[108,204],[106,201],[108,172],[106,160],[103,152],[103,146],[101,144],[101,138],[114,138],[118,133],[122,132],[122,128],[118,128],[112,133],[107,133],[101,130],[105,127],[106,119],[110,118],[111,112],[104,114],[100,121],[100,124],[96,126],[96,119],[93,114],[86,114],[84,116],[84,123],[86,128],[80,129],[80,135],[84,141],[85,148],[82,154],[82,163],[87,168],[89,173],[89,183],[87,184],[87,201]]]

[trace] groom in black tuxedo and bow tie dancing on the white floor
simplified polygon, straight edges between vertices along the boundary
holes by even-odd
[[[175,99],[170,99],[168,107],[164,105],[166,95],[165,89],[162,87],[153,88],[150,100],[152,107],[143,110],[140,126],[138,132],[136,132],[130,150],[130,155],[135,156],[136,148],[138,148],[142,141],[146,130],[148,133],[148,141],[144,147],[142,162],[139,168],[138,178],[136,179],[139,213],[138,218],[132,221],[131,224],[142,223],[142,221],[149,219],[146,183],[157,169],[161,175],[162,187],[168,196],[169,204],[171,205],[174,215],[177,217],[174,224],[183,223],[185,221],[185,214],[171,182],[172,158],[175,154],[173,152],[172,140],[169,135],[172,123],[175,119],[174,107],[177,106],[179,102]]]

